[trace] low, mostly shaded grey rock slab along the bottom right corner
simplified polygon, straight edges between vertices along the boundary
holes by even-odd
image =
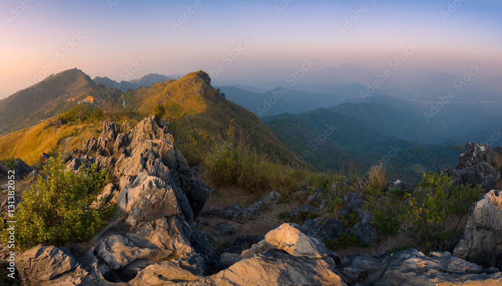
[[[431,252],[426,256],[416,249],[392,255],[347,255],[333,271],[345,283],[360,285],[495,285],[502,282],[502,274],[494,268],[483,269],[449,252]]]

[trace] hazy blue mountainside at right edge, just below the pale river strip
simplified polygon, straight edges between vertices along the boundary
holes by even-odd
[[[460,145],[466,141],[485,142],[492,129],[498,128],[496,122],[502,122],[502,116],[485,112],[480,104],[449,103],[434,117],[426,118],[424,112],[431,112],[431,104],[390,96],[374,96],[364,103],[343,103],[327,109],[359,118],[380,132],[421,144],[447,140]]]

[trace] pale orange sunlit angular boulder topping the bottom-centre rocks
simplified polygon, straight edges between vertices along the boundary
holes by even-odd
[[[333,256],[324,244],[305,235],[289,223],[283,223],[265,235],[265,240],[278,249],[282,249],[293,256],[321,258]]]

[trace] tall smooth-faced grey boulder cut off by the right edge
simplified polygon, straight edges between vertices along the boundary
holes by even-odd
[[[484,267],[502,269],[502,192],[484,194],[469,207],[464,233],[453,255]]]

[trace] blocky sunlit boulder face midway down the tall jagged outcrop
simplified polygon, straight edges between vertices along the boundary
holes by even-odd
[[[175,188],[176,189],[176,188]],[[157,177],[140,173],[131,188],[124,188],[117,207],[129,214],[128,223],[153,220],[181,213],[175,189]],[[179,192],[178,196],[181,196]]]

